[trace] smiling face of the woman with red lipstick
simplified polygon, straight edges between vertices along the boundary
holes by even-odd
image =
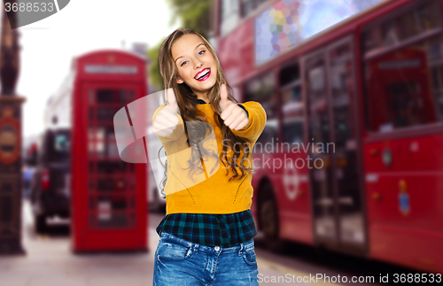
[[[200,99],[207,100],[207,92],[217,80],[217,64],[198,35],[183,35],[172,46],[172,57],[178,72],[177,83],[183,81]]]

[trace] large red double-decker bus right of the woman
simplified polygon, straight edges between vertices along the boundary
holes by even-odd
[[[234,97],[268,114],[253,215],[273,247],[441,273],[443,1],[369,2],[217,2]]]

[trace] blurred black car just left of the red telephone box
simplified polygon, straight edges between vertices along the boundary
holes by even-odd
[[[70,216],[70,138],[70,129],[62,128],[40,137],[30,195],[37,232],[46,228],[49,217]]]

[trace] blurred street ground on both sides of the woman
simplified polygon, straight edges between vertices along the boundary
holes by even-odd
[[[159,240],[155,227],[163,218],[162,214],[149,214],[150,251],[147,253],[74,254],[70,250],[69,220],[50,220],[46,233],[35,234],[27,201],[24,201],[22,213],[22,244],[27,255],[0,258],[0,286],[152,285],[153,253]],[[323,279],[315,281],[313,276],[320,274],[329,276],[330,281],[338,281],[339,277],[340,282],[333,284],[377,285],[380,274],[389,274],[391,279],[392,274],[406,271],[376,261],[319,253],[294,243],[284,255],[277,255],[266,250],[260,234],[254,239],[260,285],[332,284]],[[353,283],[353,276],[367,282]],[[371,277],[375,282],[368,280]],[[305,282],[297,282],[297,279]]]

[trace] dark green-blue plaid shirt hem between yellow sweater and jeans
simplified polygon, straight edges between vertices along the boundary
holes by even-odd
[[[210,247],[237,246],[257,235],[253,213],[170,213],[156,228],[192,243]]]

